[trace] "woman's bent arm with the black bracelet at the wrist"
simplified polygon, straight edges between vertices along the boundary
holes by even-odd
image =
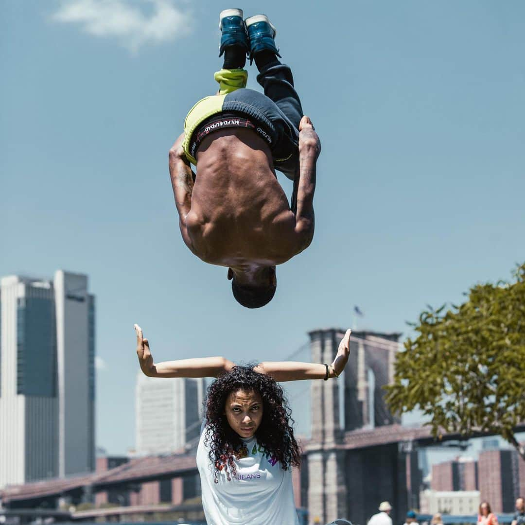
[[[350,353],[350,333],[346,330],[339,343],[337,355],[328,365],[328,377],[337,377],[344,370]],[[276,381],[300,381],[302,379],[324,379],[327,367],[321,363],[300,363],[297,361],[268,361],[258,364],[254,370],[271,375]]]

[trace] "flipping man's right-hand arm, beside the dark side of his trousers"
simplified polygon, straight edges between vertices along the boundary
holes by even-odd
[[[299,176],[293,182],[292,196],[299,251],[308,248],[313,238],[313,194],[316,191],[317,159],[320,153],[319,137],[310,118],[304,116],[299,123]]]

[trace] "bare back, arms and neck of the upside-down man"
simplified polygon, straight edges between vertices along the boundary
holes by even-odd
[[[294,209],[277,181],[269,146],[253,130],[207,135],[196,153],[196,176],[183,139],[170,150],[170,175],[186,245],[203,261],[228,267],[228,278],[238,283],[275,281],[275,266],[307,248],[313,237],[320,142],[310,119],[300,124]]]

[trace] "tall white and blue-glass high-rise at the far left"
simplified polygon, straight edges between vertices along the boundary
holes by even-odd
[[[88,278],[0,280],[0,487],[95,469]]]

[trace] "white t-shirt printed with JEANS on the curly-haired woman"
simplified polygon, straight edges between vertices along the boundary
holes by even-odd
[[[246,449],[234,459],[235,477],[230,472],[228,481],[223,468],[215,483],[215,467],[209,460],[203,429],[204,425],[197,447],[197,468],[208,525],[299,525],[291,467],[283,470],[279,461],[268,457],[257,445],[255,437],[241,438]]]

